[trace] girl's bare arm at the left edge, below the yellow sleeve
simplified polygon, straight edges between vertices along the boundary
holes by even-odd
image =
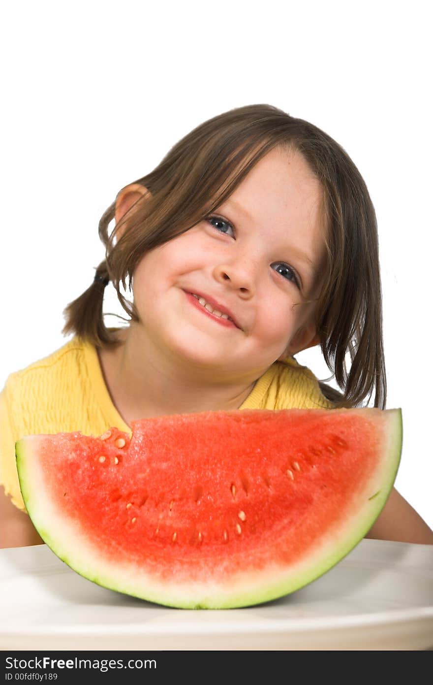
[[[30,517],[18,509],[0,486],[0,549],[43,545]]]

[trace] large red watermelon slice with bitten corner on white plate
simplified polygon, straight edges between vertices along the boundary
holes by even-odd
[[[401,410],[232,410],[26,436],[42,539],[93,582],[181,608],[287,595],[365,536],[391,491]]]

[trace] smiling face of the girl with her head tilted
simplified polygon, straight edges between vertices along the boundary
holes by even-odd
[[[215,214],[137,265],[143,344],[184,367],[218,371],[222,382],[258,377],[315,344],[315,304],[305,300],[319,292],[321,207],[322,186],[302,155],[268,153]],[[187,293],[213,299],[237,325]]]

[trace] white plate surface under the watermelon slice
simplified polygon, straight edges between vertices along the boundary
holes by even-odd
[[[433,546],[361,540],[302,590],[181,610],[102,588],[47,545],[0,550],[1,649],[431,649]]]

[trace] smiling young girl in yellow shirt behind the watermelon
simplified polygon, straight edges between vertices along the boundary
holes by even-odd
[[[352,160],[317,127],[270,105],[215,116],[120,190],[99,235],[105,260],[65,310],[75,336],[12,373],[0,396],[3,547],[42,542],[16,473],[23,435],[131,433],[135,419],[205,410],[332,410],[373,393],[384,408],[375,212]],[[105,327],[110,282],[126,327]],[[293,358],[312,345],[341,394]],[[368,537],[433,544],[396,490]]]

